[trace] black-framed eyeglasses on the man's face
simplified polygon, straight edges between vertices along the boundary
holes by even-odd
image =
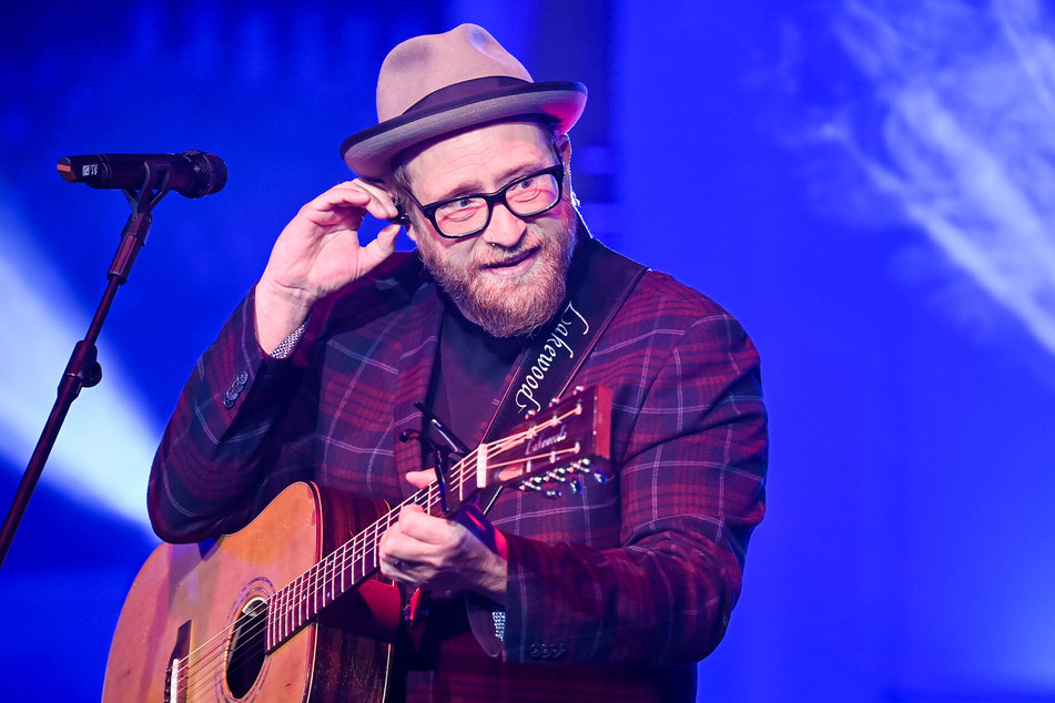
[[[440,236],[458,240],[486,230],[497,203],[505,205],[517,217],[534,217],[552,210],[560,202],[564,180],[565,167],[558,163],[517,179],[494,193],[459,195],[428,205],[422,205],[409,193],[407,195]]]

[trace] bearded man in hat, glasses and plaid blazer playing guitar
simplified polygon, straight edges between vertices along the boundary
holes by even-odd
[[[399,440],[444,445],[433,417],[471,447],[554,385],[611,390],[609,482],[504,490],[468,520],[410,505],[381,538],[382,575],[427,594],[394,697],[694,700],[739,597],[763,513],[758,356],[708,298],[590,237],[567,134],[585,102],[475,26],[394,49],[379,123],[343,145],[359,177],[282,232],[158,452],[154,528],[196,541],[297,480],[399,503],[436,478]],[[366,214],[393,224],[364,245]],[[400,223],[419,258],[393,253]]]

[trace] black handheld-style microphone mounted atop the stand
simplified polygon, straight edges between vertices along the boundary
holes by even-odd
[[[227,183],[227,165],[215,154],[185,151],[182,154],[92,154],[63,156],[59,175],[70,183],[93,189],[140,189],[148,167],[169,173],[169,189],[186,197],[220,192]]]

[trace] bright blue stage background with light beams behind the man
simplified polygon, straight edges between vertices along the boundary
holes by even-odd
[[[770,511],[701,701],[1055,701],[1055,17],[1039,0],[133,0],[0,24],[0,498],[128,215],[60,156],[220,154],[170,195],[0,569],[0,700],[97,700],[153,448],[385,52],[476,21],[576,79],[587,221],[763,356]],[[402,241],[403,247],[409,243]],[[628,633],[632,636],[632,633]],[[559,675],[555,672],[554,675]]]

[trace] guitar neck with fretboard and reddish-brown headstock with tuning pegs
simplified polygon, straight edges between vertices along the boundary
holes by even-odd
[[[417,491],[278,589],[268,604],[266,650],[277,649],[325,608],[377,572],[377,546],[399,519],[404,506],[417,505],[428,514],[446,517],[494,483],[521,481],[521,490],[545,490],[546,481],[576,481],[575,475],[579,472],[603,478],[591,460],[608,457],[609,405],[607,390],[594,389],[592,395],[576,396],[558,405],[547,419],[470,451],[447,470],[443,486],[434,481]]]

